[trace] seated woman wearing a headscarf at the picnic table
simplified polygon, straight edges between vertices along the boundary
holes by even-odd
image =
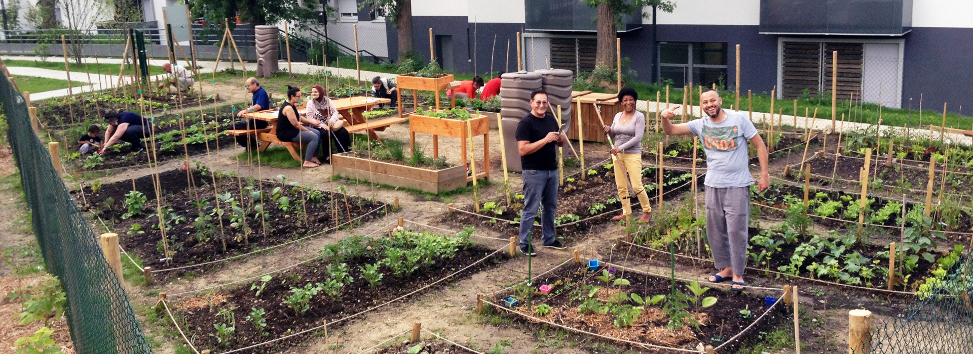
[[[331,141],[338,145],[337,152],[351,150],[351,137],[344,129],[342,115],[335,109],[335,105],[325,96],[324,87],[315,84],[310,89],[310,100],[307,101],[306,121],[321,133],[321,146],[324,148],[323,160],[329,162],[331,156]],[[328,138],[330,137],[330,138]]]

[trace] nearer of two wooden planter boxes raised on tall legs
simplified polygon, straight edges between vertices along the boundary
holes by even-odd
[[[436,112],[441,111],[437,110]],[[439,137],[456,138],[459,139],[459,145],[462,149],[460,156],[465,164],[466,152],[469,149],[466,144],[470,139],[467,123],[469,123],[469,130],[472,130],[474,137],[484,136],[484,146],[487,146],[482,156],[484,159],[484,171],[478,171],[477,178],[486,177],[489,179],[489,117],[486,115],[470,113],[469,120],[458,120],[412,113],[409,117],[409,146],[412,147],[415,145],[415,133],[431,134],[432,157],[436,158],[439,157]],[[467,177],[467,179],[473,180],[473,177]]]

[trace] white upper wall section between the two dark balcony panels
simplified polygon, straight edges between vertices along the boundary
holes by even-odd
[[[652,8],[645,8],[652,15]],[[659,24],[760,24],[760,0],[684,0],[675,2],[671,14],[658,11]],[[642,18],[651,24],[652,18]]]

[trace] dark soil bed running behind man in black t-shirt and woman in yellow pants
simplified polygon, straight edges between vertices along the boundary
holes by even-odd
[[[600,214],[606,211],[621,209],[622,203],[617,201],[618,199],[618,186],[615,184],[614,170],[605,169],[605,165],[592,166],[591,170],[595,171],[595,175],[586,176],[586,179],[581,179],[580,175],[575,175],[574,181],[568,181],[567,177],[564,178],[564,185],[560,186],[558,189],[558,211],[557,215],[561,218],[561,223],[568,223],[574,221],[564,217],[563,215],[571,214],[577,216],[577,218],[585,219],[596,214]],[[645,165],[642,172],[642,183],[646,187],[646,191],[649,198],[652,200],[653,204],[658,203],[656,197],[658,197],[658,189],[649,190],[649,186],[655,186],[658,181],[657,170],[651,166]],[[665,196],[666,200],[671,200],[679,193],[689,191],[692,187],[689,183],[692,179],[692,174],[688,172],[683,172],[679,170],[664,170],[663,171],[663,181],[666,184],[663,187],[664,193],[676,190],[677,192],[669,193]],[[703,185],[703,176],[697,175],[699,185]],[[609,203],[609,200],[615,199]],[[632,204],[638,203],[638,199],[631,196]],[[500,197],[493,201],[496,205],[502,206],[506,204],[506,199]],[[604,209],[595,210],[592,212],[591,209],[593,205],[600,203],[604,205]],[[514,208],[500,208],[501,212],[496,212],[497,209],[484,210],[481,209],[481,214],[489,215],[492,217],[518,221],[521,217],[521,209],[523,209],[523,199],[517,200],[514,198],[512,200]],[[473,206],[466,208],[468,211],[475,212]],[[640,207],[633,206],[633,210],[638,211]],[[633,211],[633,212],[635,212]],[[621,214],[621,210],[618,211]],[[585,220],[572,225],[559,227],[558,236],[565,238],[579,237],[586,235],[588,231],[592,229],[595,225],[599,225],[605,222],[611,222],[611,217],[615,214],[602,215],[601,217],[596,217],[590,220]],[[517,235],[520,230],[520,222],[506,222],[497,221],[493,219],[488,219],[486,217],[476,216],[468,214],[465,212],[457,212],[456,217],[446,217],[444,221],[454,222],[459,224],[473,224],[477,226],[488,227],[497,230],[501,233],[508,235]],[[540,222],[540,219],[535,219],[536,222]],[[556,221],[557,222],[557,221]],[[538,229],[539,233],[540,230]]]

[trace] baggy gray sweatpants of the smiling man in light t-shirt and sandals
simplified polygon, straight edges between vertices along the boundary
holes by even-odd
[[[750,241],[750,187],[706,186],[706,239],[716,269],[733,267],[742,275],[746,268],[746,244]]]

